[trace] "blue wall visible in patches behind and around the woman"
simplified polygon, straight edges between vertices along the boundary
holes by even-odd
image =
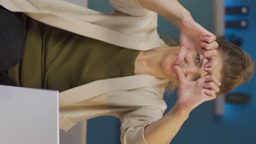
[[[194,19],[203,27],[212,31],[212,1],[179,1],[187,8]],[[230,19],[247,19],[249,20],[248,29],[225,29],[226,34],[236,34],[243,38],[242,49],[250,53],[254,61],[256,59],[256,1],[254,0],[226,0],[226,6],[248,5],[250,8],[249,15],[246,16],[226,16]],[[89,8],[111,13],[107,0],[92,1],[89,0]],[[253,17],[254,14],[254,17]],[[160,34],[167,34],[174,39],[178,38],[179,31],[172,23],[159,16]],[[256,143],[256,78],[237,87],[232,92],[246,92],[252,97],[251,103],[247,105],[225,104],[225,114],[215,117],[213,113],[213,101],[208,101],[197,107],[191,112],[189,119],[184,123],[179,133],[174,137],[171,143],[197,143],[197,144],[240,144]],[[176,101],[176,92],[166,95],[166,103],[170,110]],[[114,117],[99,117],[88,121],[88,144],[91,143],[120,143],[119,134],[120,123]]]

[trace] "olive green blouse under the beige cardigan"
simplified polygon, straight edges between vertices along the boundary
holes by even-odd
[[[24,57],[8,72],[19,86],[61,92],[96,80],[134,75],[138,53],[26,16]]]

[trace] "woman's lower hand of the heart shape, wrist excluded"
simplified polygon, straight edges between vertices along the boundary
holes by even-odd
[[[213,75],[205,75],[196,81],[188,81],[178,65],[175,70],[179,79],[177,105],[179,111],[190,112],[205,101],[216,98],[220,81]]]

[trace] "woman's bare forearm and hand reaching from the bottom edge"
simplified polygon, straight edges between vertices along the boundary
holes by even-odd
[[[166,144],[178,133],[189,113],[205,101],[216,98],[220,82],[216,77],[206,75],[197,81],[188,81],[179,66],[175,66],[178,74],[178,100],[172,109],[158,121],[148,125],[144,137],[150,144]]]

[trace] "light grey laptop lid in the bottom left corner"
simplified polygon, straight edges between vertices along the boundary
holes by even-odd
[[[59,144],[59,92],[0,85],[0,143]]]

